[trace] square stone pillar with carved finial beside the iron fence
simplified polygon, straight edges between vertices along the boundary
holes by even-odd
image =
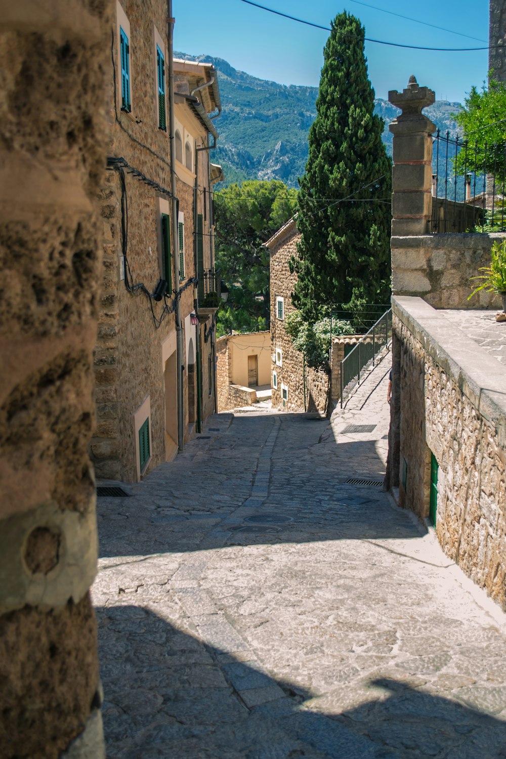
[[[410,77],[402,93],[391,90],[388,100],[402,113],[390,124],[394,135],[391,234],[427,235],[432,216],[432,138],[435,124],[422,114],[435,93]]]

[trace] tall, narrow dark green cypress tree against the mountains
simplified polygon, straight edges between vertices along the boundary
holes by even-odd
[[[360,21],[338,14],[324,49],[291,261],[294,305],[312,323],[325,304],[357,312],[390,298],[391,162],[363,43]]]

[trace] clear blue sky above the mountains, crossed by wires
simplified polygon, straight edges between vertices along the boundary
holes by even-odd
[[[428,47],[472,48],[488,44],[488,0],[441,0],[422,5],[406,0],[363,0],[386,11],[424,20],[469,36],[416,24],[358,2],[258,0],[277,11],[328,26],[347,10],[360,18],[366,36]],[[427,11],[424,14],[424,9]],[[173,0],[174,49],[225,58],[234,68],[283,84],[318,86],[328,33],[253,8],[241,0]],[[481,41],[479,41],[481,40]],[[473,84],[481,86],[488,53],[428,52],[366,43],[369,79],[376,96],[406,87],[411,74],[435,90],[436,98],[463,102]]]

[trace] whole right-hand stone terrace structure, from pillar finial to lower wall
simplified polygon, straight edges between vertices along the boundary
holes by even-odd
[[[435,525],[445,553],[506,608],[506,351],[500,303],[468,301],[501,235],[429,234],[434,93],[411,77],[389,99],[392,400],[387,484]],[[504,353],[504,355],[503,355]],[[498,360],[499,359],[499,360]]]

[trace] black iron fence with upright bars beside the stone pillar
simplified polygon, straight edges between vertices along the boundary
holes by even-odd
[[[504,231],[506,143],[438,130],[432,150],[432,232]]]

